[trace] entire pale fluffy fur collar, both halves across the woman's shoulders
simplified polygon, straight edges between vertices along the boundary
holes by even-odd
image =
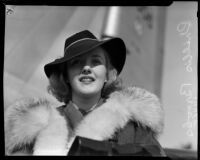
[[[9,153],[15,146],[36,139],[34,154],[66,155],[73,142],[72,135],[105,140],[130,120],[159,134],[163,129],[163,118],[158,98],[136,87],[111,93],[106,102],[89,113],[75,131],[47,100],[17,102],[5,114],[6,150]]]

